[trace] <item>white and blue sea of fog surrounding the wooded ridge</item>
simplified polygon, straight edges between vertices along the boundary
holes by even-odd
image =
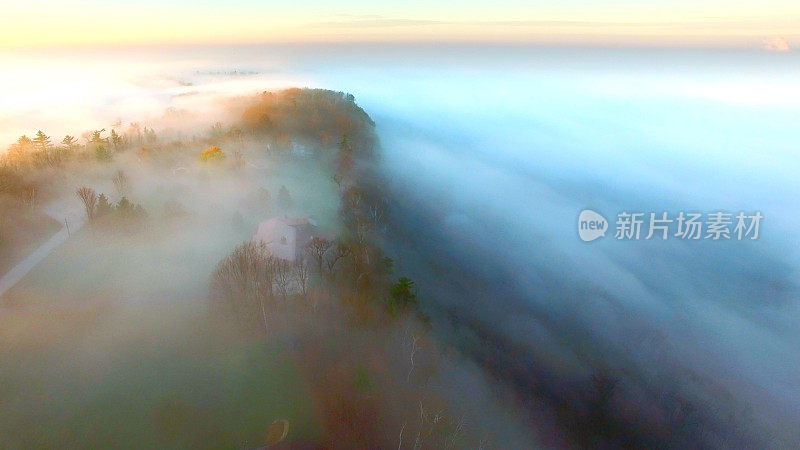
[[[606,368],[720,414],[743,406],[764,442],[800,442],[797,53],[297,45],[0,62],[4,147],[167,108],[210,124],[232,94],[352,93],[381,139],[387,248],[434,321],[477,321],[564,379]],[[578,238],[586,208],[605,238]],[[620,241],[622,211],[764,220],[757,240]]]

